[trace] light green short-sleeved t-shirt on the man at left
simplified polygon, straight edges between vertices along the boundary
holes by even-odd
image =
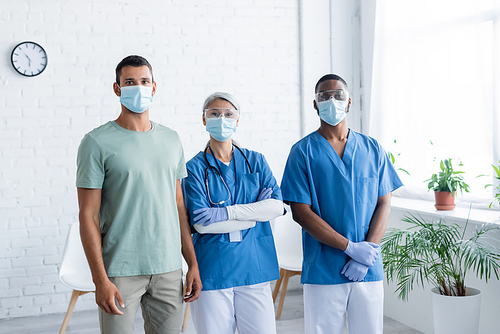
[[[176,180],[187,176],[177,132],[157,123],[146,132],[110,121],[87,133],[76,186],[102,189],[99,218],[109,277],[181,268]]]

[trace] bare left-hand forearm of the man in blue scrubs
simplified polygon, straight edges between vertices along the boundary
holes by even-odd
[[[333,248],[345,251],[349,241],[321,219],[309,204],[291,202],[293,220],[295,220],[314,239]]]

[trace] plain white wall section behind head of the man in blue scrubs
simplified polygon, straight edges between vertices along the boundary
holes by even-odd
[[[348,126],[361,131],[360,0],[301,1],[302,132],[319,127],[314,87],[325,74],[344,78],[351,93]]]

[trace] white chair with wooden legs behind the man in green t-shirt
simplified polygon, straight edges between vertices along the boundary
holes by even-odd
[[[73,223],[69,228],[61,261],[61,268],[59,269],[59,279],[62,284],[73,289],[68,310],[66,311],[61,329],[59,330],[59,334],[64,334],[78,297],[95,291],[90,267],[80,240],[79,223]]]

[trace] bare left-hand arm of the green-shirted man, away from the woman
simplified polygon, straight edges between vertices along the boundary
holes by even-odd
[[[96,288],[96,303],[106,313],[121,315],[123,313],[116,307],[115,298],[122,308],[125,307],[123,299],[120,291],[109,280],[102,260],[99,222],[101,189],[77,189],[80,206],[80,236]]]

